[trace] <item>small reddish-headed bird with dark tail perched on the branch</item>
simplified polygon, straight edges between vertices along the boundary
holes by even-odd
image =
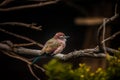
[[[66,47],[67,38],[69,38],[69,36],[66,36],[63,32],[57,32],[51,39],[46,41],[41,50],[41,55],[36,57],[32,61],[32,64],[35,64],[37,61],[39,61],[42,55],[53,56],[61,53]]]

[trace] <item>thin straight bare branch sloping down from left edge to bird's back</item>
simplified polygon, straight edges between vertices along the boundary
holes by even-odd
[[[9,31],[4,30],[4,29],[2,29],[2,28],[0,28],[0,31],[2,31],[2,32],[4,32],[4,33],[7,33],[7,34],[9,34],[9,35],[15,36],[15,37],[17,37],[17,38],[20,38],[20,39],[23,39],[23,40],[26,40],[26,41],[32,42],[32,43],[38,45],[39,47],[43,47],[42,44],[39,44],[39,43],[37,43],[36,41],[34,41],[34,40],[30,39],[30,38],[27,38],[27,37],[25,37],[25,36],[21,36],[21,35],[18,35],[18,34],[15,34],[15,33],[9,32]]]

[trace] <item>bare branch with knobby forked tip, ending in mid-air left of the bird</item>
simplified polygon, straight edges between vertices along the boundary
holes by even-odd
[[[22,22],[5,22],[5,23],[0,23],[0,25],[12,25],[12,26],[23,26],[35,30],[42,30],[42,26],[36,26],[37,24],[32,23],[32,24],[27,24],[27,23],[22,23]]]

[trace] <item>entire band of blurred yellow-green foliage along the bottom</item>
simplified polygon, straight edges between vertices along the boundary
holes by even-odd
[[[120,79],[120,53],[115,53],[112,58],[107,59],[106,69],[98,68],[91,71],[91,67],[80,63],[77,69],[73,69],[71,64],[62,63],[57,59],[52,59],[44,65],[48,80],[115,80]]]

